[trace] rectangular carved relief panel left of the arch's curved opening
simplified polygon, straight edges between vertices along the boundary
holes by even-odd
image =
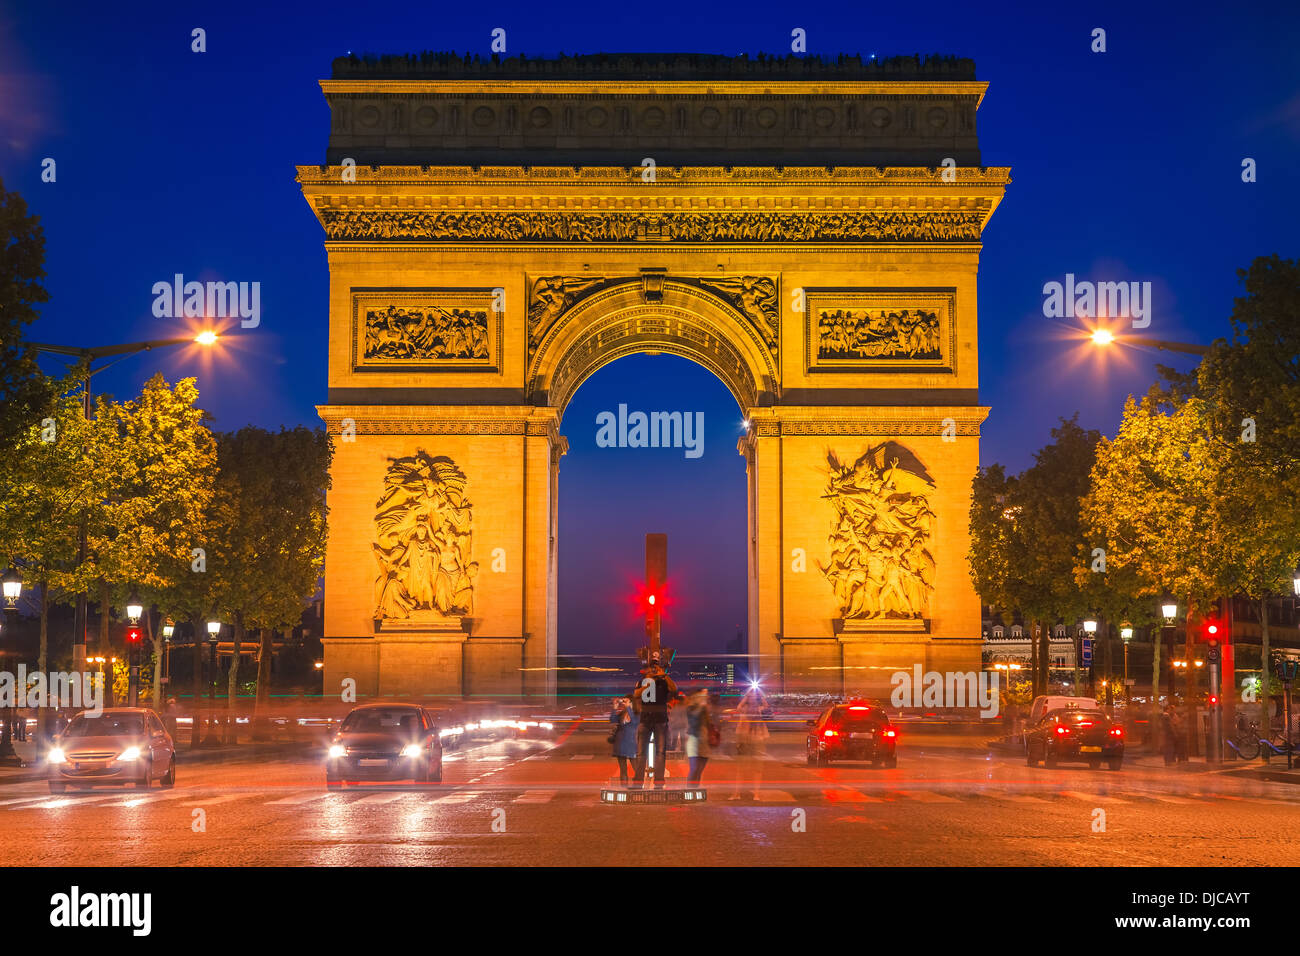
[[[352,289],[352,371],[500,372],[491,289]]]

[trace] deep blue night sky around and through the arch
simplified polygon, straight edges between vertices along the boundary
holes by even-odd
[[[257,280],[261,326],[231,358],[139,356],[96,388],[133,393],[161,368],[169,380],[199,376],[218,429],[316,425],[328,274],[294,166],[324,160],[317,81],[334,56],[486,55],[497,26],[510,53],[529,56],[784,53],[800,26],[811,53],[954,53],[991,83],[983,159],[1011,166],[1014,182],[984,234],[980,399],[993,411],[983,460],[1023,468],[1056,419],[1076,410],[1086,427],[1113,432],[1124,395],[1145,390],[1161,356],[1127,351],[1102,364],[1043,317],[1043,284],[1067,272],[1150,281],[1145,334],[1227,333],[1235,269],[1295,255],[1300,13],[1287,4],[1249,14],[1131,3],[901,7],[3,4],[0,176],[47,237],[51,300],[31,337],[105,345],[178,334],[174,320],[152,316],[153,282],[177,272]],[[195,26],[207,30],[207,53],[190,52]],[[1089,52],[1098,26],[1104,55]],[[56,183],[40,182],[47,156]],[[1240,179],[1247,156],[1258,163],[1251,185]],[[619,402],[703,410],[703,457],[595,449],[595,412]],[[667,356],[621,359],[577,393],[560,479],[562,650],[621,649],[612,635],[638,636],[620,596],[646,531],[670,533],[679,646],[718,650],[734,635],[745,579],[738,423],[719,381]]]

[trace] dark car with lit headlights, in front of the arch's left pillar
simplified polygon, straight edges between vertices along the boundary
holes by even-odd
[[[339,724],[325,756],[325,783],[442,780],[438,723],[415,704],[367,704]]]

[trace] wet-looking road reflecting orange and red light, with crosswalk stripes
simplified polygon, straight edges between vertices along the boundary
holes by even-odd
[[[894,770],[815,769],[792,734],[757,786],[723,753],[705,804],[611,806],[607,749],[603,728],[486,741],[448,752],[442,784],[341,792],[306,754],[181,765],[170,791],[16,783],[0,787],[0,865],[1300,864],[1300,843],[1277,839],[1300,823],[1300,788],[1228,773],[1048,770],[923,737]]]

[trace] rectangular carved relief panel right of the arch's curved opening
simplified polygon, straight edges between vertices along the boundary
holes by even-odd
[[[956,372],[956,289],[807,289],[812,372]]]

